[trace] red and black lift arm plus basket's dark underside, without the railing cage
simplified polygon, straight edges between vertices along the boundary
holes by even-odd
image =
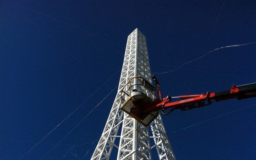
[[[140,97],[144,98],[140,98],[140,101],[143,101],[143,103],[136,101],[136,96],[130,96],[131,98],[126,101],[130,102],[129,110],[127,110],[127,103],[121,103],[121,109],[123,111],[131,115],[139,122],[143,123],[145,126],[150,124],[150,122],[155,119],[155,112],[159,110],[162,110],[163,114],[169,114],[176,109],[186,111],[194,108],[200,108],[205,105],[212,104],[214,100],[218,102],[233,98],[241,100],[256,97],[256,83],[252,83],[239,86],[232,85],[229,90],[216,93],[210,93],[207,91],[206,94],[180,95],[177,97],[167,95],[162,99],[160,84],[155,75],[152,77],[156,85],[156,94],[158,96],[155,94],[154,99],[151,100],[146,94],[141,93]],[[132,92],[131,94],[133,95]],[[180,98],[182,100],[171,102],[172,98]]]

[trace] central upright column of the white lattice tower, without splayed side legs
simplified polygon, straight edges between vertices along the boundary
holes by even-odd
[[[125,54],[130,55],[130,65],[134,67],[131,67],[132,69],[129,71],[132,75],[129,79],[134,76],[143,76],[148,81],[152,81],[146,39],[139,29],[136,28],[128,36]],[[132,85],[134,83],[136,82],[132,82]],[[134,89],[140,90],[139,86]],[[148,127],[144,127],[127,113],[124,113],[123,117],[117,160],[151,160]]]

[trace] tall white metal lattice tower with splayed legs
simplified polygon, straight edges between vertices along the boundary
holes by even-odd
[[[120,109],[120,90],[134,76],[143,76],[152,83],[146,38],[138,28],[128,36],[118,92],[91,160],[109,160],[113,147],[118,149],[117,160],[152,160],[151,150],[154,148],[159,160],[175,160],[160,115],[150,124],[150,136],[149,127],[144,127]],[[121,125],[121,135],[118,135]],[[120,138],[119,145],[115,144],[117,138]],[[150,144],[151,138],[154,145]]]

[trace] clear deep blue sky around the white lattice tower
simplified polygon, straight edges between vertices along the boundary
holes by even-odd
[[[80,122],[118,84],[127,36],[134,28],[147,38],[152,72],[175,69],[218,47],[256,41],[256,2],[226,0],[219,12],[222,4],[223,0],[2,0],[0,160],[19,160],[118,72],[22,160],[40,160]],[[164,95],[177,96],[252,83],[255,71],[252,44],[212,52],[157,77]],[[92,141],[102,134],[115,94],[116,90],[43,160],[76,160],[75,153],[82,159],[88,150],[84,160],[89,160],[96,146]],[[254,160],[256,106],[212,118],[255,100],[229,100],[164,116],[177,160]],[[212,120],[204,122],[208,119]],[[182,130],[198,122],[204,123]],[[156,151],[152,153],[155,159]]]

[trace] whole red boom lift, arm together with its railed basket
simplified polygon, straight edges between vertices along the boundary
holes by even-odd
[[[135,118],[143,125],[149,125],[157,117],[159,110],[163,114],[169,114],[176,109],[182,111],[203,107],[212,104],[215,100],[223,101],[236,98],[238,100],[256,97],[256,83],[247,85],[232,85],[227,91],[206,94],[180,95],[171,97],[167,95],[162,98],[160,83],[155,75],[152,76],[156,85],[156,94],[154,86],[143,77],[133,77],[120,90],[120,108]],[[172,101],[174,98],[181,100]],[[172,102],[171,102],[172,101]]]

